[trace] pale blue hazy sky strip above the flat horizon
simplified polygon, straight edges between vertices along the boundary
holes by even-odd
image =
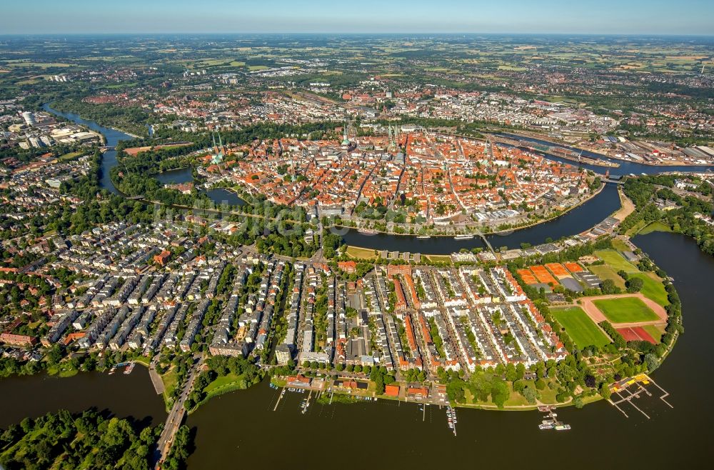
[[[714,0],[11,0],[0,34],[714,35]]]

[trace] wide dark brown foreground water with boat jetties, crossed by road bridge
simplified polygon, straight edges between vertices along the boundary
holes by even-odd
[[[636,237],[635,243],[674,277],[682,300],[686,332],[653,374],[670,392],[673,409],[656,398],[638,401],[650,419],[633,409],[625,418],[602,401],[580,410],[568,407],[558,410],[559,418],[573,427],[568,432],[540,431],[541,416],[535,411],[458,409],[454,437],[446,414],[437,407],[428,406],[425,413],[416,404],[380,400],[312,404],[307,414],[301,414],[299,404],[305,395],[287,393],[273,411],[277,392],[263,383],[216,397],[188,417],[188,426],[196,429],[196,451],[188,459],[188,469],[277,468],[296,462],[301,462],[298,467],[323,469],[345,461],[375,468],[423,468],[445,462],[584,469],[707,466],[713,456],[714,366],[709,358],[714,315],[708,296],[714,259],[678,234],[655,232]],[[0,396],[0,427],[60,408],[79,411],[95,406],[154,423],[166,416],[143,367],[129,376],[1,379]]]

